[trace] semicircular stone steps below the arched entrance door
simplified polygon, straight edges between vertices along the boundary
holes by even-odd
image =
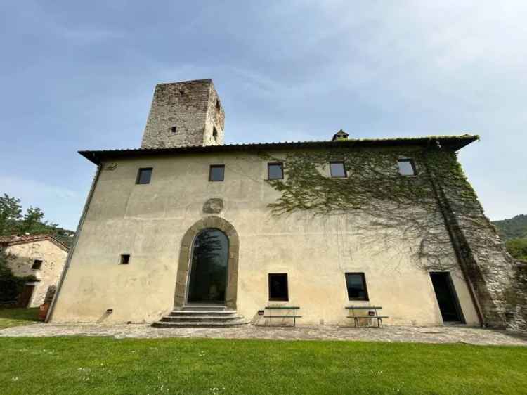
[[[190,305],[173,310],[152,324],[157,328],[225,328],[248,323],[226,306]]]

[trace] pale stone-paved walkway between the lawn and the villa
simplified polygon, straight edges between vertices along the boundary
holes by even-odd
[[[365,342],[467,343],[527,346],[527,334],[462,326],[350,328],[337,326],[233,328],[152,328],[148,324],[44,324],[0,330],[0,337],[111,336],[117,339],[208,337],[221,339],[360,340]]]

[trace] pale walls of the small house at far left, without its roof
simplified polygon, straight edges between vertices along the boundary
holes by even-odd
[[[32,283],[34,290],[28,307],[40,306],[44,302],[48,287],[58,284],[67,251],[50,240],[38,240],[10,245],[6,247],[6,252],[10,255],[8,266],[15,276],[32,274],[39,280]],[[35,259],[41,259],[40,269],[31,268]]]

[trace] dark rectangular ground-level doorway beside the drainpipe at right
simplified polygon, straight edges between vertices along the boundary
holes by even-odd
[[[460,302],[455,293],[450,273],[434,271],[430,273],[436,292],[437,303],[444,323],[464,323]]]

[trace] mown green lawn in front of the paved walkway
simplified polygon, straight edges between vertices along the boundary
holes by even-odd
[[[2,394],[525,394],[527,348],[0,338]]]

